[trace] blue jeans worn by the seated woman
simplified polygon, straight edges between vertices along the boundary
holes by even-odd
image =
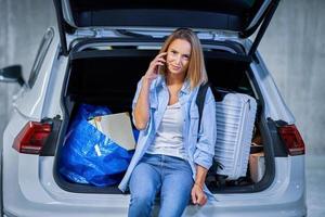
[[[193,187],[190,164],[179,157],[145,154],[130,178],[129,217],[151,216],[156,194],[160,192],[161,217],[180,217],[191,199]]]

